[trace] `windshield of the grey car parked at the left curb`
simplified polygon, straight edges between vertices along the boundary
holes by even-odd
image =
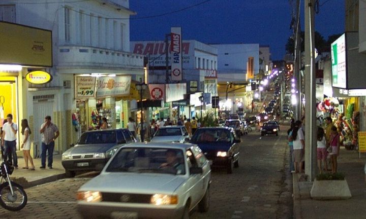
[[[83,133],[78,144],[115,143],[116,141],[115,131],[92,131]]]

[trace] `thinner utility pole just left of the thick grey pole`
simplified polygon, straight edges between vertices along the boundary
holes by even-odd
[[[295,60],[294,60],[294,77],[296,78],[298,93],[295,93],[297,104],[295,112],[295,120],[301,119],[301,28],[300,28],[300,0],[296,0],[296,27],[295,27]]]

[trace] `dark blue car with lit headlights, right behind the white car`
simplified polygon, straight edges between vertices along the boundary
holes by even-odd
[[[239,166],[239,142],[232,128],[199,128],[192,136],[191,143],[197,144],[212,166],[225,167],[232,173]]]

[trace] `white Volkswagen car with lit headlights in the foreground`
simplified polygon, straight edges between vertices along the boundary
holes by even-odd
[[[84,218],[189,218],[209,207],[210,162],[189,143],[133,143],[77,192]]]

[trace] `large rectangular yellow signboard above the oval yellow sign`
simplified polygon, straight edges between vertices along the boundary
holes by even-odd
[[[52,31],[0,22],[0,64],[52,67]]]

